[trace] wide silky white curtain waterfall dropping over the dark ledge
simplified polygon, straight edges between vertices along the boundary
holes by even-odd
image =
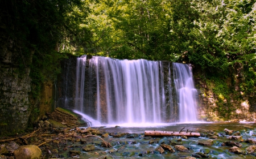
[[[189,65],[84,55],[73,83],[73,106],[65,103],[104,124],[197,121]]]

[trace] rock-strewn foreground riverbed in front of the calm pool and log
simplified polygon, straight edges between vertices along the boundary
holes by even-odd
[[[47,123],[47,122],[46,122]],[[47,124],[46,124],[47,125]],[[249,131],[252,132],[252,131]],[[255,158],[253,133],[224,129],[201,137],[152,137],[98,128],[44,127],[1,139],[0,158]],[[26,153],[24,153],[26,152]]]

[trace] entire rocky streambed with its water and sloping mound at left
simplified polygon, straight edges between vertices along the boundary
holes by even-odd
[[[173,124],[155,130],[199,132],[200,137],[145,136],[144,128],[81,127],[64,110],[44,116],[26,134],[0,138],[0,158],[256,158],[255,123]],[[200,128],[201,127],[201,128]]]

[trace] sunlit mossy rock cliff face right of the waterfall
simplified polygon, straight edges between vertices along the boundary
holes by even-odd
[[[199,90],[199,116],[206,121],[255,121],[256,100],[254,91],[243,92],[240,85],[245,82],[241,65],[235,66],[232,75],[225,81],[213,82],[205,79],[200,69],[193,74]],[[255,90],[255,88],[251,88]],[[225,93],[225,95],[224,95]]]

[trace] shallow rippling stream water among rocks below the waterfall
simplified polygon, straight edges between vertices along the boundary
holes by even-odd
[[[136,126],[134,124],[134,126]],[[185,128],[184,128],[185,127]],[[229,152],[230,147],[221,146],[223,141],[227,141],[228,136],[225,135],[224,129],[240,131],[244,140],[247,138],[254,138],[253,134],[256,134],[256,123],[232,123],[232,122],[213,122],[213,123],[174,123],[174,124],[161,124],[161,125],[144,125],[136,127],[129,127],[127,125],[122,125],[120,127],[106,126],[106,127],[94,127],[98,130],[104,130],[106,132],[128,132],[130,134],[140,134],[141,137],[135,137],[134,139],[127,139],[125,137],[114,138],[109,137],[111,143],[115,143],[113,148],[101,148],[98,147],[100,151],[106,152],[105,156],[109,158],[181,158],[186,156],[192,156],[196,152],[202,152],[208,155],[209,158],[256,158],[255,154],[234,154]],[[169,137],[154,137],[150,140],[146,140],[143,137],[145,130],[161,130],[161,131],[180,131],[182,128],[183,132],[200,132],[205,131],[216,131],[219,134],[218,139],[214,140],[214,144],[211,147],[198,145],[200,140],[208,140],[208,137],[188,137],[188,139],[182,139],[183,146],[189,149],[188,152],[170,153],[168,151],[160,154],[155,151],[159,147],[160,143],[168,144],[170,141],[176,141],[180,137],[169,136]],[[224,136],[222,136],[222,135]],[[152,141],[151,144],[148,141]],[[135,143],[135,144],[134,144]],[[241,142],[243,145],[241,149],[249,147],[248,143]],[[123,148],[122,148],[123,147]],[[172,146],[173,147],[173,146]],[[174,147],[173,147],[174,148]],[[112,150],[112,151],[111,151]],[[117,152],[118,150],[118,152]],[[110,152],[111,151],[111,152]],[[92,152],[86,152],[84,155],[88,158],[98,157]],[[102,154],[103,156],[103,154]],[[85,157],[85,158],[86,158]]]

